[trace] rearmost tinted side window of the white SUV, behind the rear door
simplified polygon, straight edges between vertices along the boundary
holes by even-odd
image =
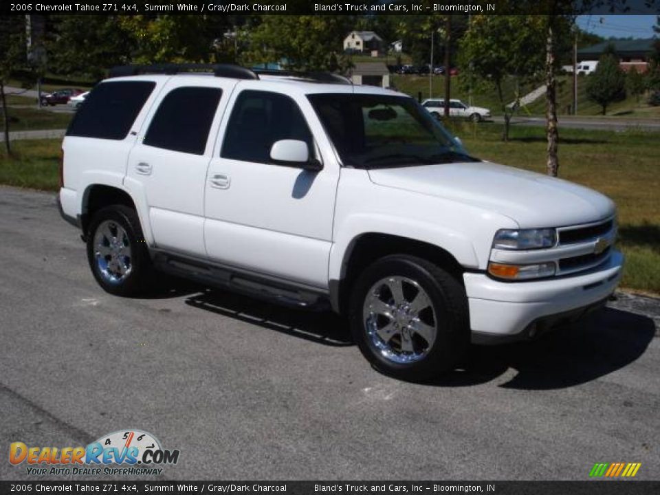
[[[67,136],[124,139],[155,85],[153,81],[117,81],[97,85],[76,112],[67,129]]]

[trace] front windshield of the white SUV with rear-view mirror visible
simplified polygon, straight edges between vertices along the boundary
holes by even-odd
[[[344,166],[478,161],[412,98],[371,94],[314,94],[308,98]]]

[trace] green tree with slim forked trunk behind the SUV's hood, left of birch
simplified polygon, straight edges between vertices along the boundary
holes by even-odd
[[[520,105],[520,88],[536,80],[544,63],[544,25],[538,16],[472,16],[461,41],[463,81],[471,87],[494,85],[504,113],[502,139],[509,140],[509,122]],[[503,85],[514,78],[515,100],[505,100]]]

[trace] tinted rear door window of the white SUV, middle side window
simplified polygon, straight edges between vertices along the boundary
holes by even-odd
[[[222,90],[212,87],[179,87],[158,107],[144,144],[181,153],[203,155]]]

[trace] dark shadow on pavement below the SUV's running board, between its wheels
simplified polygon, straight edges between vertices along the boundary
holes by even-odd
[[[332,347],[354,345],[347,323],[329,311],[274,305],[221,289],[206,289],[188,297],[186,304],[318,344]]]

